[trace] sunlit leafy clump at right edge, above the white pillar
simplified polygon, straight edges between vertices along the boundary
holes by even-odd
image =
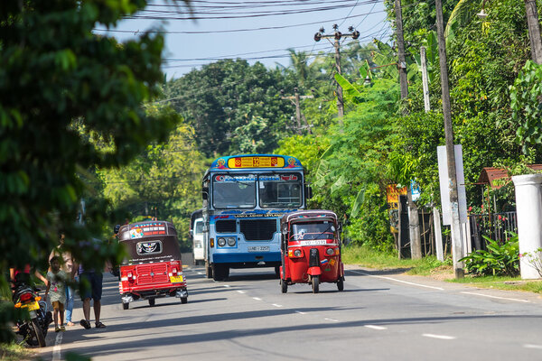
[[[510,87],[512,118],[518,123],[517,140],[528,152],[528,145],[542,143],[542,65],[528,60]]]

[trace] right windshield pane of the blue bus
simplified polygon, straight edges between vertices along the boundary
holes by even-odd
[[[270,173],[258,177],[261,208],[299,208],[303,204],[301,173]]]

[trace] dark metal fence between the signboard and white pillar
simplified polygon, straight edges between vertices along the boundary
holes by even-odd
[[[518,233],[518,215],[516,212],[469,215],[472,249],[487,249],[483,236],[506,242],[510,232]]]

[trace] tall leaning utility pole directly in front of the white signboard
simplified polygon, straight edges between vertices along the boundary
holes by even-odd
[[[450,207],[452,214],[452,255],[455,278],[463,278],[463,244],[459,225],[459,201],[457,196],[457,177],[455,172],[455,152],[453,150],[452,112],[450,107],[450,88],[448,85],[448,66],[446,60],[446,42],[444,40],[443,4],[435,0],[436,31],[438,36],[438,55],[441,70],[441,88],[443,92],[444,136],[446,139],[446,160],[448,163],[448,187],[450,189]]]

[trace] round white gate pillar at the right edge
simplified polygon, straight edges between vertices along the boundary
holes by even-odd
[[[540,264],[542,248],[542,174],[513,176],[518,211],[519,270],[522,279],[540,278],[534,264]],[[542,270],[540,270],[542,272]]]

